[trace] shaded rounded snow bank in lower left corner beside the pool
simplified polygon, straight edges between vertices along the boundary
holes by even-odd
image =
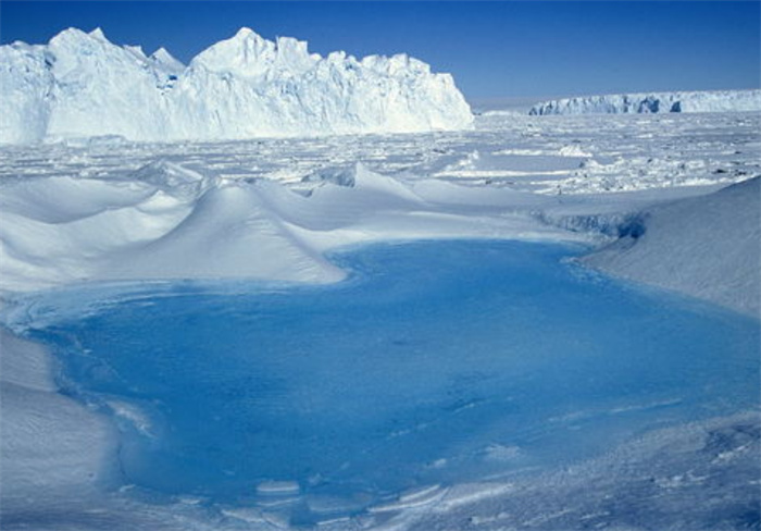
[[[2,481],[13,485],[3,489],[3,511],[23,513],[30,501],[42,499],[55,499],[65,510],[83,495],[96,494],[97,483],[107,479],[104,461],[113,458],[115,430],[105,417],[58,393],[52,359],[40,345],[2,328],[0,345]]]

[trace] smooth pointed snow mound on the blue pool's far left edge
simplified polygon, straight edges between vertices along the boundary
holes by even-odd
[[[255,183],[209,189],[171,231],[110,256],[102,274],[129,280],[253,276],[313,282],[344,276],[294,237],[269,207],[267,189]]]

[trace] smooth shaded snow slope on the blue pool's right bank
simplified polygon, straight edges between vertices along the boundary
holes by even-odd
[[[759,314],[761,177],[654,207],[643,220],[638,230],[582,261]]]

